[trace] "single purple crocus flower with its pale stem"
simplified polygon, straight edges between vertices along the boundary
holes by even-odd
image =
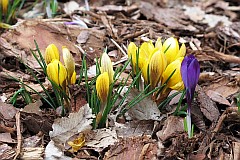
[[[198,60],[193,56],[186,56],[181,65],[181,75],[184,86],[186,88],[186,98],[187,98],[187,127],[188,135],[191,135],[191,103],[194,97],[194,91],[198,83],[200,75],[200,66]]]

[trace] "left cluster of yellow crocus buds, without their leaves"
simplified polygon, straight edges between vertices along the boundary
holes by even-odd
[[[60,62],[58,48],[50,44],[45,50],[44,59],[47,64],[48,78],[66,90],[66,85],[76,82],[75,61],[65,46],[62,47],[62,54],[64,65]]]

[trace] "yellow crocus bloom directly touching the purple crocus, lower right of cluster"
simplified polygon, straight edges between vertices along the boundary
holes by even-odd
[[[163,72],[162,75],[162,84],[165,83],[168,79],[168,77],[173,73],[173,71],[176,69],[175,73],[172,75],[170,80],[167,83],[167,87],[171,88],[173,90],[183,90],[184,89],[184,84],[182,81],[182,76],[181,76],[181,64],[183,61],[184,57],[179,57],[172,63],[170,63],[165,71]]]

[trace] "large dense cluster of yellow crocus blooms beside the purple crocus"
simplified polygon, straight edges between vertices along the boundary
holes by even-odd
[[[128,46],[128,57],[132,60],[133,70],[142,71],[145,84],[155,88],[164,84],[174,72],[166,88],[182,90],[181,63],[186,53],[184,44],[179,47],[176,38],[168,38],[163,44],[158,38],[155,45],[152,41],[144,42],[138,48],[133,42]]]

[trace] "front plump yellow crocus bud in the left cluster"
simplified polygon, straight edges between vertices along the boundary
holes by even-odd
[[[47,75],[49,79],[63,87],[67,78],[67,70],[59,60],[54,59],[47,65]]]

